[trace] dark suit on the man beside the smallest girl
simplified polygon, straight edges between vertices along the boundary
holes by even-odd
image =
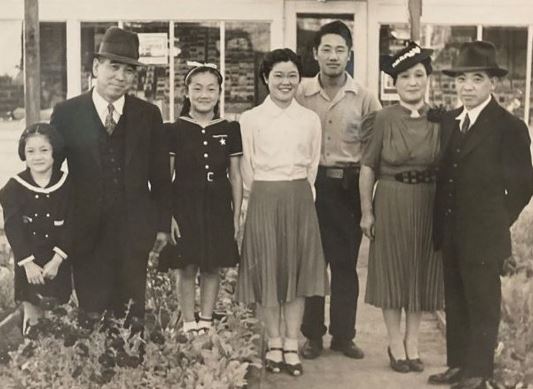
[[[148,252],[156,232],[170,231],[170,167],[161,113],[153,104],[126,95],[115,130],[120,129],[120,136],[111,141],[91,91],[58,104],[51,124],[65,139],[72,181],[74,279],[80,305],[102,311],[113,305],[105,300],[116,299],[117,307],[133,298],[142,305],[142,314]],[[114,164],[114,154],[104,155],[111,142],[123,159]],[[113,180],[120,181],[119,197],[109,208]]]

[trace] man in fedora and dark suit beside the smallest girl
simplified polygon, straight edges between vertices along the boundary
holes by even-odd
[[[93,60],[95,87],[54,108],[73,185],[73,272],[90,317],[144,315],[150,249],[170,231],[170,167],[159,109],[127,95],[137,34],[109,28]],[[155,243],[154,243],[155,241]]]

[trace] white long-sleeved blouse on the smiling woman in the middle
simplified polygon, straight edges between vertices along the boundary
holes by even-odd
[[[313,189],[322,130],[316,113],[296,100],[283,109],[267,96],[265,101],[240,118],[244,188],[252,182],[292,181],[306,178]]]

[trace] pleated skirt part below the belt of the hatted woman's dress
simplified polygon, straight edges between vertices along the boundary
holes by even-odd
[[[434,184],[378,181],[366,303],[409,312],[443,308],[442,259],[432,242],[434,196]]]

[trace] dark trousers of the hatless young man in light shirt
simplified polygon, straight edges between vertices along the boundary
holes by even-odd
[[[362,232],[359,176],[329,178],[320,168],[316,180],[316,209],[324,256],[331,272],[329,333],[336,341],[355,336],[355,317],[359,297],[357,255]],[[326,333],[324,297],[305,300],[302,333],[318,340]]]

